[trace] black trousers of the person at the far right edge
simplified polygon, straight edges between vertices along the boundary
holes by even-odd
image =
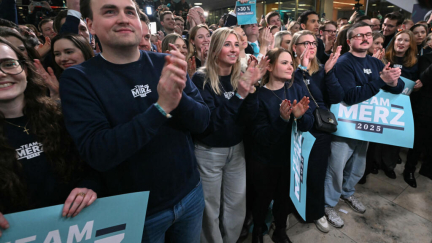
[[[417,162],[423,153],[422,170],[432,173],[432,117],[418,115],[414,116],[414,147],[408,150],[405,170],[415,172]],[[426,172],[425,171],[425,172]]]

